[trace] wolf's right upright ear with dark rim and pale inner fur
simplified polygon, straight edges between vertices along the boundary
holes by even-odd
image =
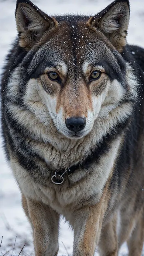
[[[96,16],[91,17],[88,23],[100,29],[114,47],[119,52],[122,52],[123,47],[126,45],[129,15],[129,0],[116,0]]]

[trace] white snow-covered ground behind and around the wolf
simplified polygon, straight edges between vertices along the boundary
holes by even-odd
[[[33,2],[48,14],[61,14],[63,12],[90,14],[97,13],[111,1],[33,0]],[[15,4],[16,0],[0,0],[0,73],[4,64],[4,56],[16,35]],[[144,0],[130,0],[130,5],[131,19],[128,42],[144,47]],[[3,240],[1,244],[2,236]],[[21,247],[25,243],[26,245],[21,255],[34,255],[31,229],[21,207],[20,191],[5,161],[0,137],[0,255],[19,254]],[[67,223],[64,223],[63,220],[61,220],[59,244],[60,249],[58,255],[72,255],[73,232],[68,229]],[[12,248],[14,249],[12,250]],[[14,255],[16,256],[16,254]],[[119,256],[123,255],[127,255],[125,244],[122,246]]]

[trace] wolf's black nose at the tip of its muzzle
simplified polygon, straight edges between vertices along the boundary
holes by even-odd
[[[70,131],[79,132],[85,127],[85,118],[70,117],[66,119],[66,126]]]

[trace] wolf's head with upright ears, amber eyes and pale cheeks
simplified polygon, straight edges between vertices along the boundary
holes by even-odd
[[[84,137],[103,118],[125,118],[135,96],[122,58],[129,13],[128,0],[91,17],[50,17],[17,1],[19,46],[27,51],[23,101],[35,118],[47,127],[51,120],[70,139]]]

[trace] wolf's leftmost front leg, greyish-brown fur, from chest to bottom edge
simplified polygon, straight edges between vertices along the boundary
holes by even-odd
[[[27,199],[29,218],[33,223],[36,256],[56,256],[58,252],[59,215],[47,205]]]

